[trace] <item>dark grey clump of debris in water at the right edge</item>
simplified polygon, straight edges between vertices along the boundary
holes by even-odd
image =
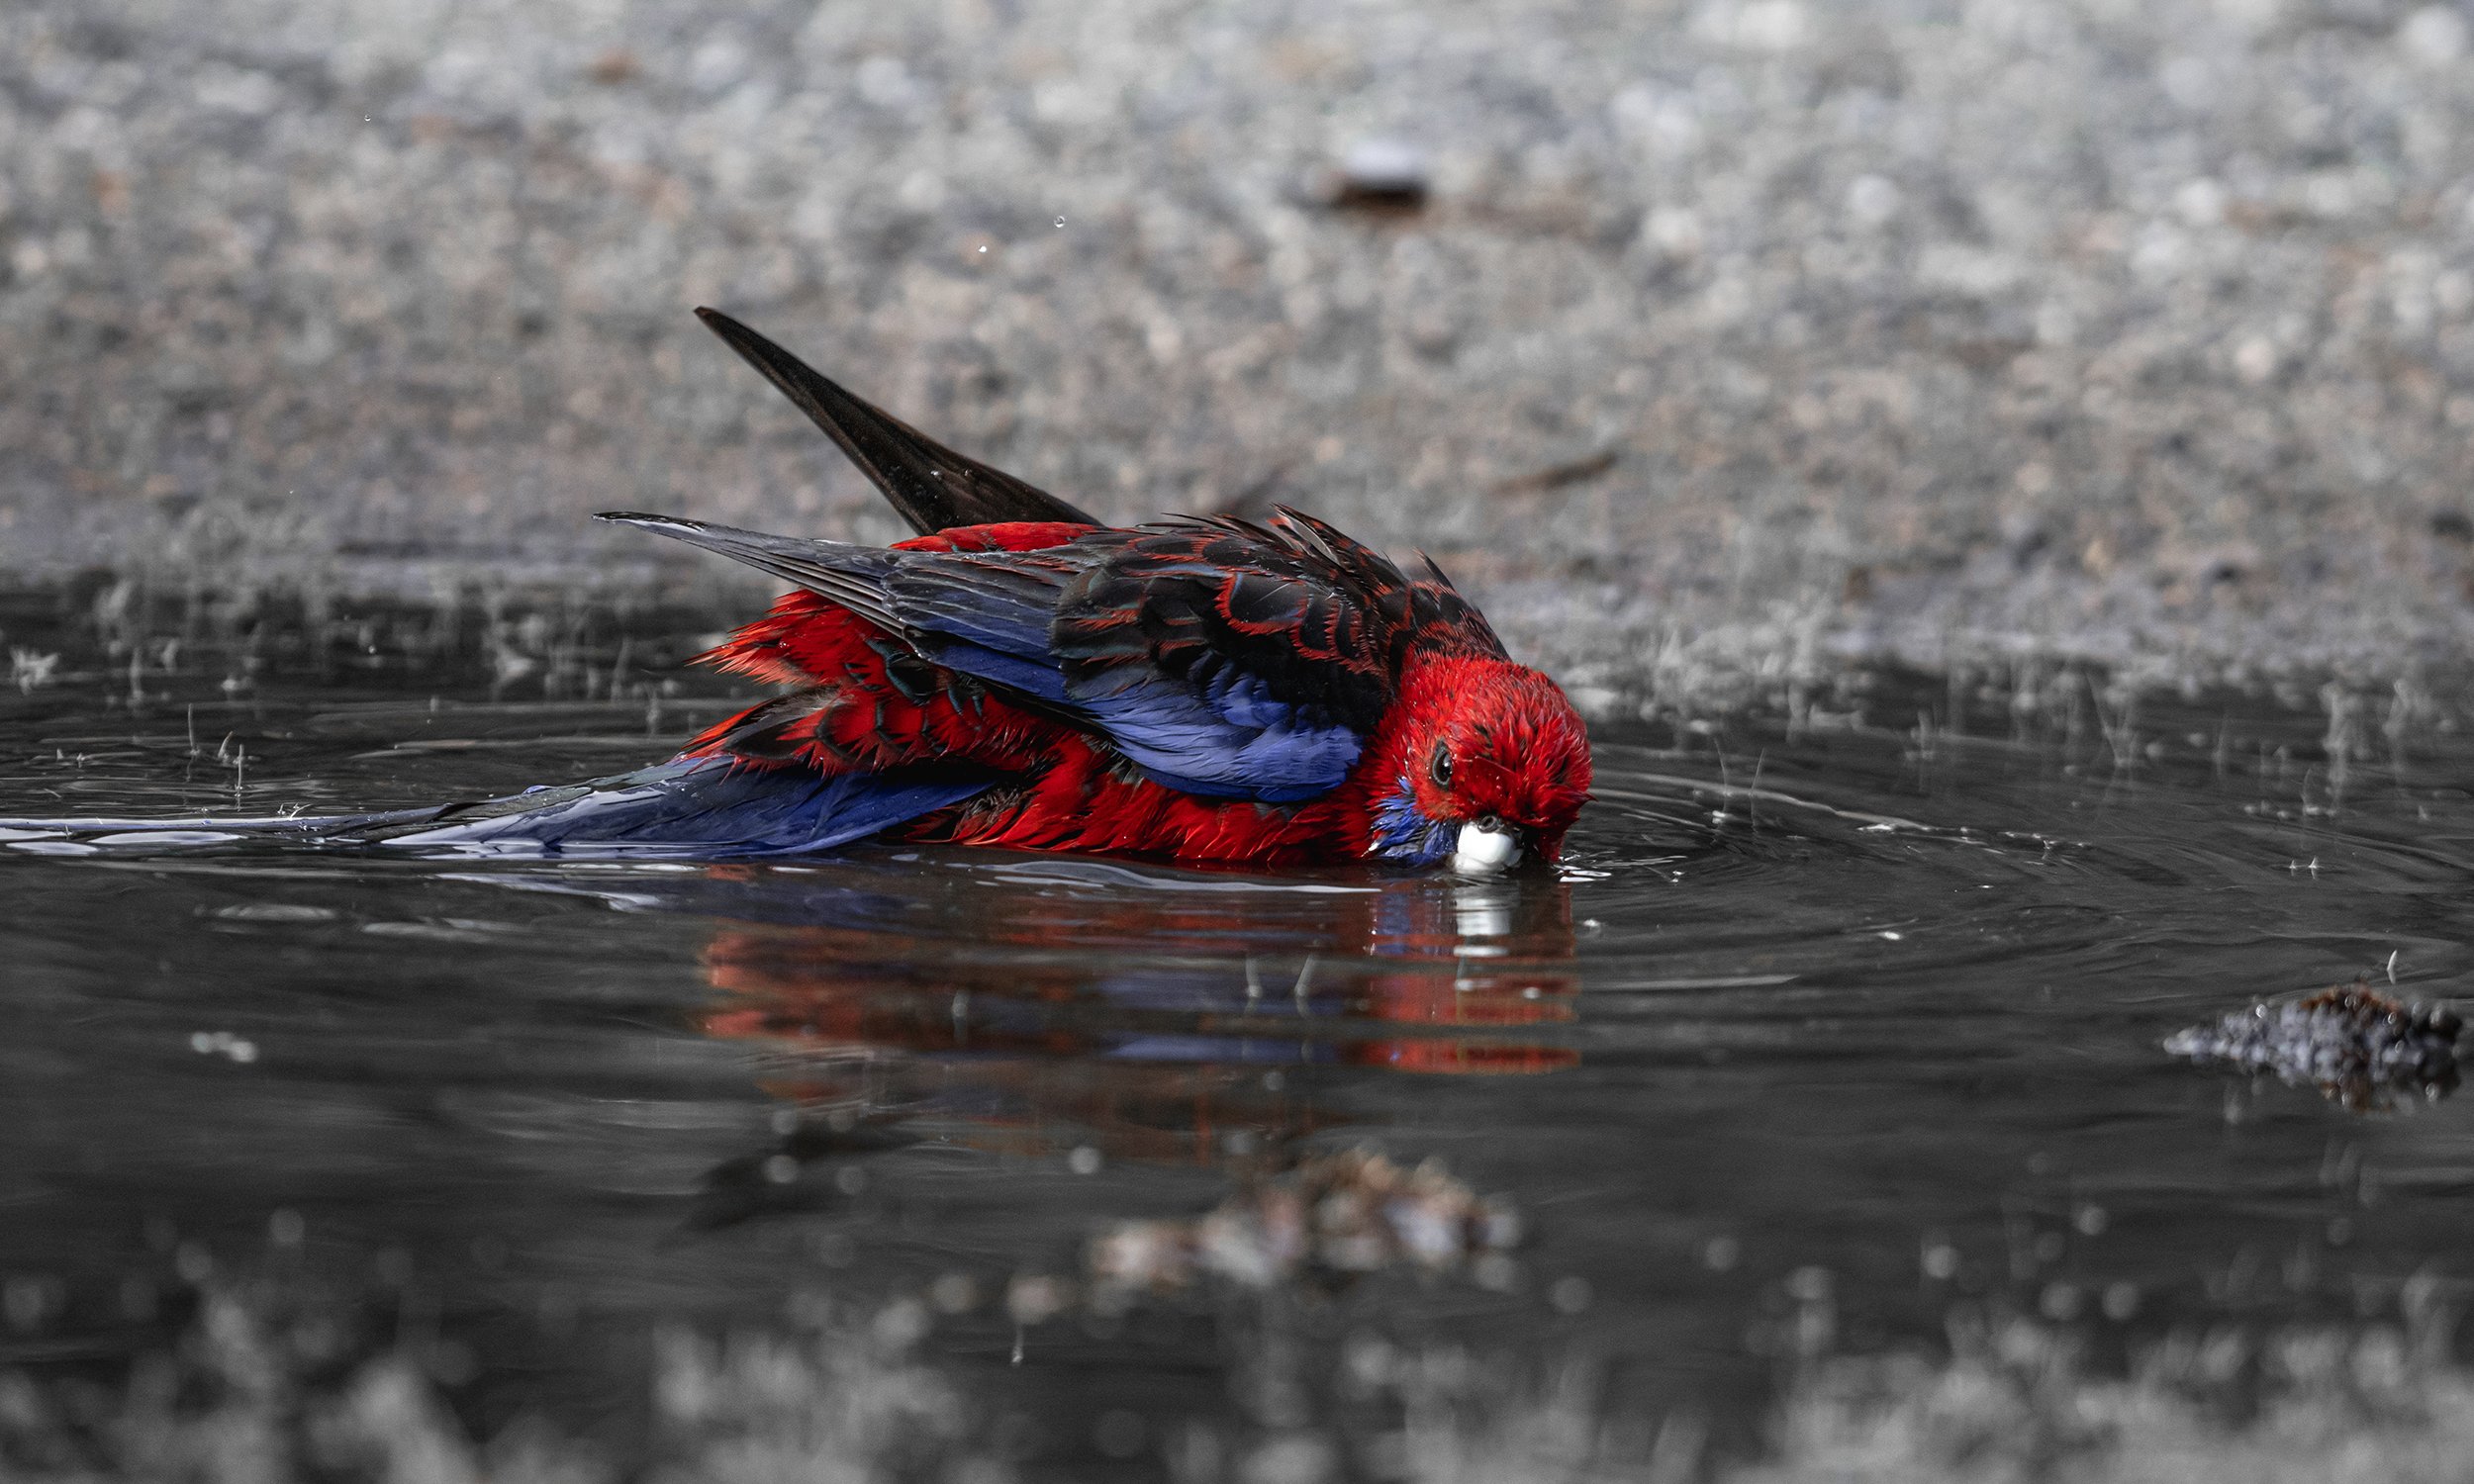
[[[2410,1004],[2360,979],[2175,1031],[2165,1051],[2269,1071],[2363,1113],[2392,1106],[2397,1093],[2447,1096],[2457,1086],[2459,1029],[2447,1004]]]

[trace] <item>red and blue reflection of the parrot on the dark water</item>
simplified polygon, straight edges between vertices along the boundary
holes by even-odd
[[[1554,881],[990,876],[933,898],[767,868],[695,883],[717,920],[703,1029],[762,1044],[792,1143],[898,1120],[1022,1155],[1257,1162],[1331,1123],[1314,1091],[1351,1068],[1578,1061],[1554,1034],[1576,1004]]]

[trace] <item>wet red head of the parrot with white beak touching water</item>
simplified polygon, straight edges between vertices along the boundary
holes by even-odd
[[[1452,866],[1554,861],[1588,804],[1588,730],[1564,690],[1526,665],[1435,655],[1400,678],[1395,787],[1455,826]]]

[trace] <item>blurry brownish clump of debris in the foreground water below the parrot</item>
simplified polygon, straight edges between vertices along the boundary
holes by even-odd
[[[1089,1247],[1094,1286],[1168,1294],[1202,1276],[1269,1289],[1296,1276],[1509,1264],[1519,1214],[1440,1162],[1403,1167],[1373,1150],[1311,1155],[1197,1219],[1121,1222]]]

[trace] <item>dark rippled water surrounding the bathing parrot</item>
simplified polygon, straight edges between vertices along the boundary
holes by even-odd
[[[727,705],[675,668],[705,626],[171,646],[27,599],[0,814],[616,772]],[[1561,881],[0,843],[0,1365],[111,1378],[220,1274],[292,1274],[423,1345],[470,1432],[626,1457],[663,1326],[940,1294],[920,1355],[1032,1474],[1145,1477],[1180,1427],[1346,1442],[1326,1383],[1368,1336],[1583,1363],[1616,1432],[1692,1417],[1724,1459],[1786,1355],[1930,1343],[1962,1303],[2120,1350],[2457,1291],[2474,1101],[2365,1115],[2160,1051],[2358,974],[2464,994],[2447,705],[2026,680],[1601,727]],[[1002,1301],[1108,1222],[1353,1145],[1502,1195],[1514,1261]]]

